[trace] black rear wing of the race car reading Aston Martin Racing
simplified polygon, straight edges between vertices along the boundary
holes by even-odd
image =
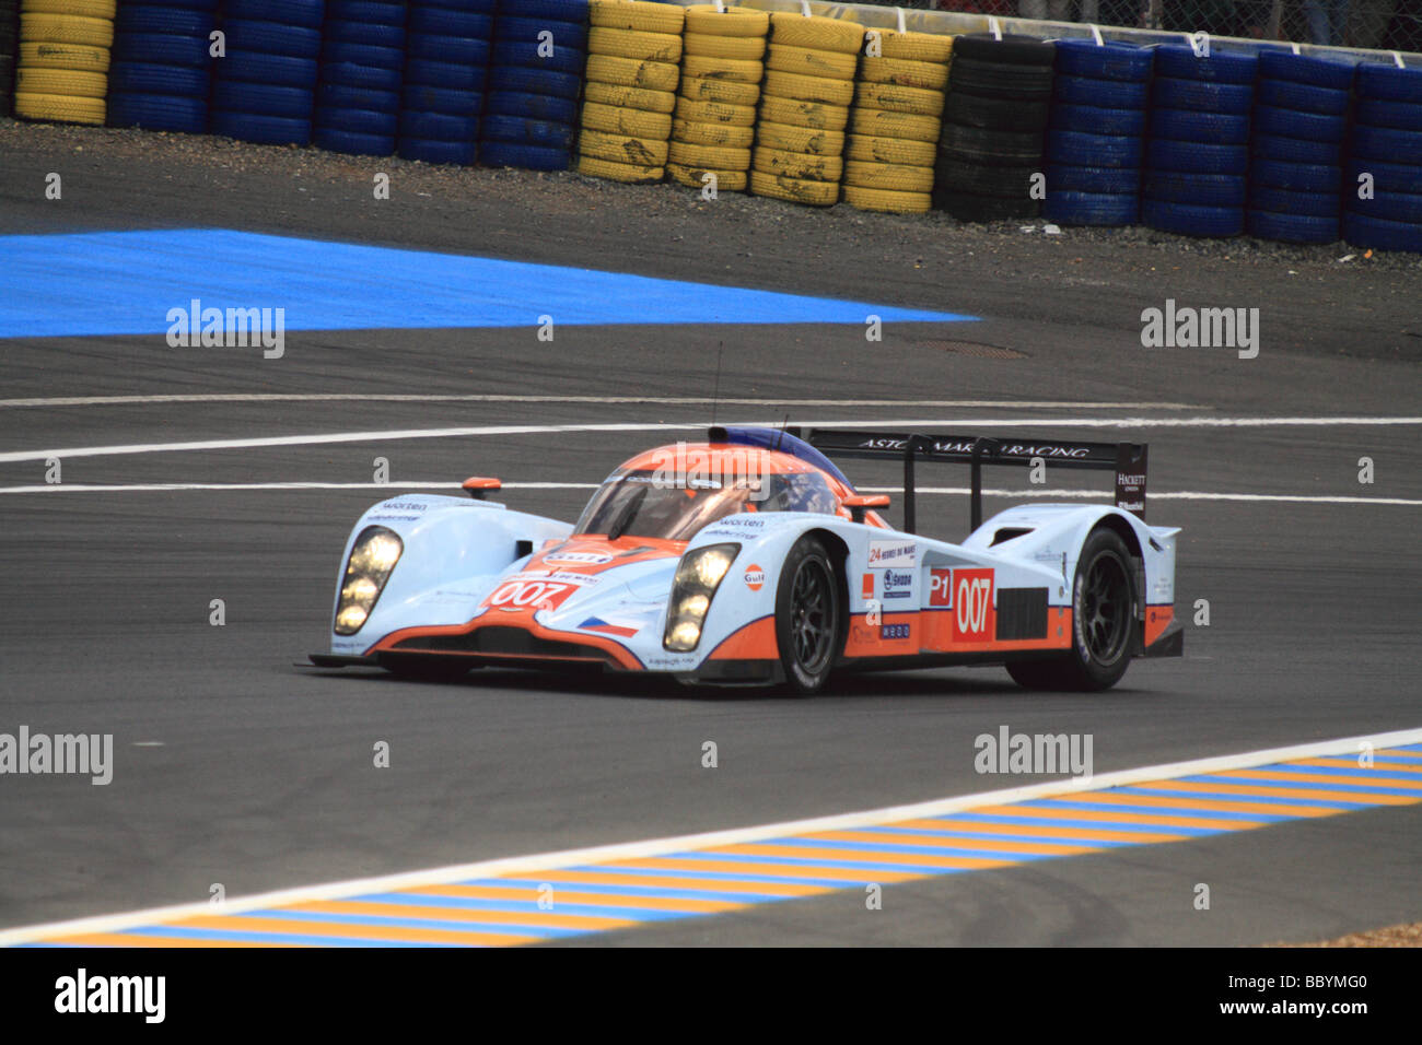
[[[792,429],[793,431],[793,429]],[[795,432],[799,435],[799,432]],[[983,525],[983,465],[1030,468],[1041,458],[1051,468],[1088,468],[1116,473],[1116,508],[1145,519],[1146,444],[1079,442],[981,435],[921,435],[811,428],[802,438],[830,458],[903,461],[903,529],[914,532],[913,468],[917,461],[941,461],[973,468],[973,529]]]

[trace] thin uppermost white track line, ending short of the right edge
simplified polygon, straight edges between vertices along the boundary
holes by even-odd
[[[131,407],[158,402],[569,402],[657,407],[1001,407],[1003,409],[1207,409],[1187,402],[1075,400],[744,400],[656,395],[405,395],[398,392],[213,392],[199,395],[68,395],[0,400],[6,407]]]

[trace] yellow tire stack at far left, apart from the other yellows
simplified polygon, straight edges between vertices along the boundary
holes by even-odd
[[[24,0],[14,114],[102,124],[117,0]]]

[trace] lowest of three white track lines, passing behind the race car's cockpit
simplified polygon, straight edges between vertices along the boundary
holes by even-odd
[[[592,491],[596,482],[506,482],[506,491]],[[34,483],[31,486],[0,486],[0,493],[171,493],[188,491],[431,491],[461,489],[456,482],[137,482],[137,483]],[[860,493],[903,493],[902,486],[859,486]],[[919,486],[917,493],[968,495],[968,486]],[[1113,495],[1099,491],[984,489],[990,498],[1062,498],[1071,500],[1111,500]],[[1345,498],[1303,493],[1219,493],[1206,491],[1160,491],[1150,500],[1257,500],[1301,505],[1402,505],[1422,506],[1422,499],[1409,498]]]

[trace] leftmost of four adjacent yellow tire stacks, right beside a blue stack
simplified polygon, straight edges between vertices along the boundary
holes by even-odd
[[[683,7],[592,0],[577,172],[616,182],[665,175],[677,105]]]

